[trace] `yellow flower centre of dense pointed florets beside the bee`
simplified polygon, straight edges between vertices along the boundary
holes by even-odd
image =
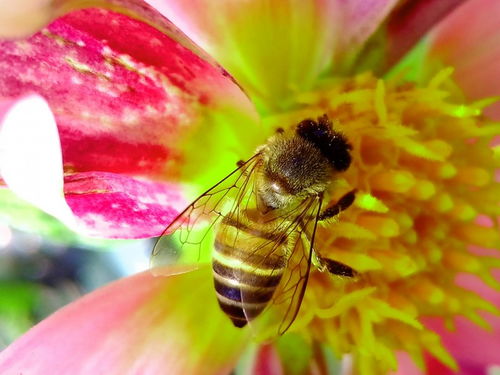
[[[456,370],[425,318],[488,327],[480,313],[499,313],[455,280],[469,273],[500,289],[498,258],[471,250],[500,248],[500,124],[482,115],[491,100],[463,103],[447,91],[452,77],[444,69],[417,85],[362,74],[301,94],[294,112],[266,120],[277,127],[326,113],[353,146],[332,200],[357,189],[356,201],[318,229],[315,248],[359,275],[312,271],[296,326],[350,353],[361,374],[396,370],[397,351],[421,367],[427,352]]]

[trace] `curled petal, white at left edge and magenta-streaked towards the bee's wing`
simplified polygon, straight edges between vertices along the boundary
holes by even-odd
[[[109,172],[63,178],[54,117],[35,95],[0,101],[0,177],[20,198],[95,237],[158,236],[187,204],[172,183]]]

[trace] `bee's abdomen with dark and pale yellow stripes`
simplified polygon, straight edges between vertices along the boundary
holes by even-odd
[[[224,219],[217,232],[212,267],[219,305],[236,327],[267,306],[285,268],[284,236]]]

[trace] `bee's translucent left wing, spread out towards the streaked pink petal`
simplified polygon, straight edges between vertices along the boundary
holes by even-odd
[[[192,271],[208,262],[212,251],[214,227],[226,212],[234,211],[253,194],[254,170],[259,154],[254,155],[224,179],[200,195],[182,211],[157,239],[151,254],[151,272],[171,275]],[[170,267],[180,264],[180,267]]]

